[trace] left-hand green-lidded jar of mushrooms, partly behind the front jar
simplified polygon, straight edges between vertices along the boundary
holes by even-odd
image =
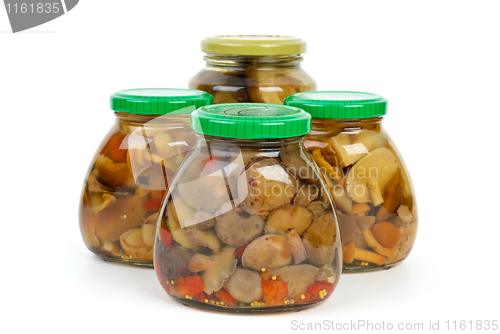
[[[212,100],[189,89],[111,96],[116,122],[92,159],[80,200],[80,230],[92,252],[106,261],[153,265],[161,201],[196,142],[189,114]]]

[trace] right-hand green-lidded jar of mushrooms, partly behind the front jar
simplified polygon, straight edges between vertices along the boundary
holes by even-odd
[[[285,104],[311,114],[304,145],[320,167],[339,214],[343,271],[388,269],[415,242],[410,175],[382,128],[387,100],[360,92],[294,94]]]

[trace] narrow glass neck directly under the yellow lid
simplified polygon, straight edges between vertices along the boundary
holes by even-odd
[[[299,66],[303,58],[301,55],[238,56],[207,53],[203,59],[205,59],[207,66],[247,67],[250,65],[272,65],[275,67],[294,67]]]

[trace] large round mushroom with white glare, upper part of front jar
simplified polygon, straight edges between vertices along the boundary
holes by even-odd
[[[292,203],[296,178],[276,158],[257,158],[238,178],[238,200],[243,209],[266,218],[272,210]]]

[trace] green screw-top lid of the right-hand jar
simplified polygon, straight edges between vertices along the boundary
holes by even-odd
[[[290,95],[284,104],[304,109],[313,118],[356,119],[387,113],[385,98],[362,92],[303,92]]]

